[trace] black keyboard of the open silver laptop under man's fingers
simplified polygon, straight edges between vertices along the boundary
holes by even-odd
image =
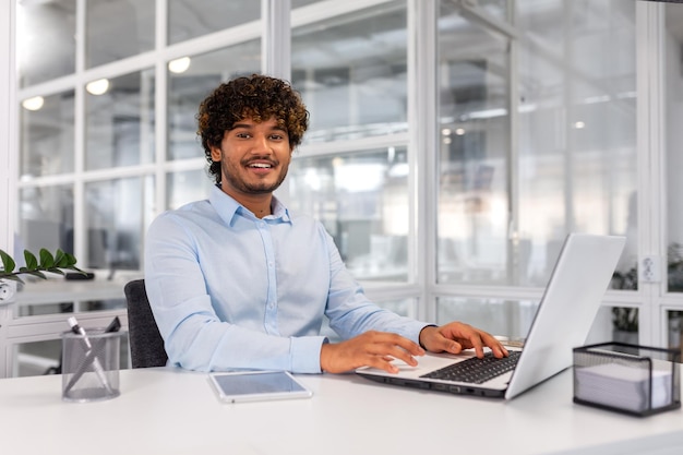
[[[434,370],[420,378],[482,384],[490,379],[506,373],[515,368],[522,351],[511,350],[510,356],[496,359],[493,354],[486,352],[483,359],[477,357]]]

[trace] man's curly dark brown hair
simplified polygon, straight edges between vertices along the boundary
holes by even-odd
[[[277,119],[287,130],[289,146],[295,149],[309,127],[309,111],[301,96],[286,81],[261,74],[242,76],[220,84],[200,104],[196,115],[208,173],[220,183],[220,163],[211,157],[211,147],[219,147],[226,131],[250,117],[255,122]]]

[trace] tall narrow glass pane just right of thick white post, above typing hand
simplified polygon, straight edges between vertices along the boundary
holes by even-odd
[[[439,24],[438,279],[505,283],[508,43],[452,3],[443,3]]]

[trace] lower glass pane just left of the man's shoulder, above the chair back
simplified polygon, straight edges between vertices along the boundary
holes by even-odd
[[[85,187],[88,268],[140,270],[143,236],[152,217],[153,177],[131,177]]]

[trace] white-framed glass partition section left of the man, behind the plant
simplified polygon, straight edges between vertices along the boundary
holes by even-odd
[[[249,3],[19,1],[15,250],[74,253],[95,279],[77,284],[88,290],[76,301],[26,280],[0,375],[59,372],[65,313],[89,325],[125,321],[122,289],[142,274],[147,226],[211,188],[199,103],[220,82],[261,71],[261,4]]]

